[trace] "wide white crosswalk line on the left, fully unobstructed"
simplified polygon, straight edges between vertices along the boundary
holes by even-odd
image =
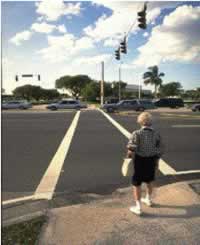
[[[69,151],[70,144],[78,124],[79,117],[80,111],[76,113],[69,129],[67,130],[67,133],[65,134],[60,146],[58,147],[57,152],[51,160],[48,169],[46,170],[40,184],[35,191],[34,199],[52,199],[64,160]]]

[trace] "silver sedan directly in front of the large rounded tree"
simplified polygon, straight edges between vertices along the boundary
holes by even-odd
[[[84,103],[80,103],[79,100],[66,99],[66,100],[58,101],[56,103],[49,104],[46,108],[50,110],[81,109],[81,108],[87,108],[87,105]]]

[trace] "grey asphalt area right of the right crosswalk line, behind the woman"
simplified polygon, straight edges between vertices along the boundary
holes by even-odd
[[[176,171],[200,169],[200,114],[190,112],[153,112],[154,128],[159,130],[165,145],[163,159]],[[138,113],[112,115],[129,132],[138,129]]]

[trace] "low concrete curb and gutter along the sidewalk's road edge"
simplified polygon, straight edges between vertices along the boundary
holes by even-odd
[[[180,176],[165,176],[165,178],[162,177],[162,179],[158,178],[156,182],[156,188],[162,188],[162,186],[166,186],[166,185],[185,183],[189,186],[189,188],[191,189],[191,192],[199,196],[200,189],[197,190],[196,186],[200,186],[200,174],[195,174],[195,175],[196,175],[196,178],[194,179],[193,179],[194,174],[190,176],[180,175]],[[40,200],[39,203],[36,203],[35,201],[33,202],[29,201],[28,203],[25,203],[25,202],[18,203],[16,206],[13,206],[13,205],[6,206],[2,209],[2,211],[3,212],[8,211],[9,213],[9,211],[13,212],[14,210],[13,212],[14,215],[16,215],[17,208],[20,208],[21,205],[24,205],[24,207],[28,209],[28,211],[31,208],[38,209],[38,210],[37,211],[34,210],[32,213],[27,213],[24,215],[22,214],[14,218],[9,217],[8,219],[5,219],[5,220],[2,219],[2,226],[6,227],[9,225],[21,223],[24,221],[29,221],[39,216],[47,216],[48,211],[54,208],[60,208],[60,207],[65,207],[65,206],[70,207],[70,206],[78,206],[78,205],[82,206],[88,203],[94,203],[94,202],[99,202],[99,201],[101,202],[101,201],[105,201],[113,197],[123,196],[127,194],[128,192],[130,192],[131,188],[132,186],[121,187],[121,188],[118,188],[112,191],[110,194],[105,194],[105,195],[100,195],[100,194],[95,194],[95,193],[85,193],[85,194],[83,193],[73,194],[72,193],[73,195],[75,195],[73,196],[73,198],[75,197],[74,202],[73,201],[69,202],[68,200],[68,197],[69,198],[71,197],[71,193],[69,194],[69,196],[67,196],[67,193],[62,193],[62,194],[58,194],[57,196],[55,196],[55,199],[51,201]],[[65,200],[66,198],[68,201]],[[2,217],[4,216],[3,212],[2,212]],[[11,215],[7,215],[7,216],[11,216]]]

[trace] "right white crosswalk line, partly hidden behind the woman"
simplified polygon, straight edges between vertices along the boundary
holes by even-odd
[[[130,133],[124,128],[122,127],[118,122],[116,122],[112,117],[110,117],[107,113],[105,113],[104,111],[102,111],[101,109],[98,109],[117,129],[119,129],[119,131],[126,136],[126,138],[130,137]],[[162,172],[164,175],[174,175],[176,174],[176,170],[173,169],[172,167],[169,166],[169,164],[167,164],[163,159],[160,159],[159,161],[159,170],[160,172]]]

